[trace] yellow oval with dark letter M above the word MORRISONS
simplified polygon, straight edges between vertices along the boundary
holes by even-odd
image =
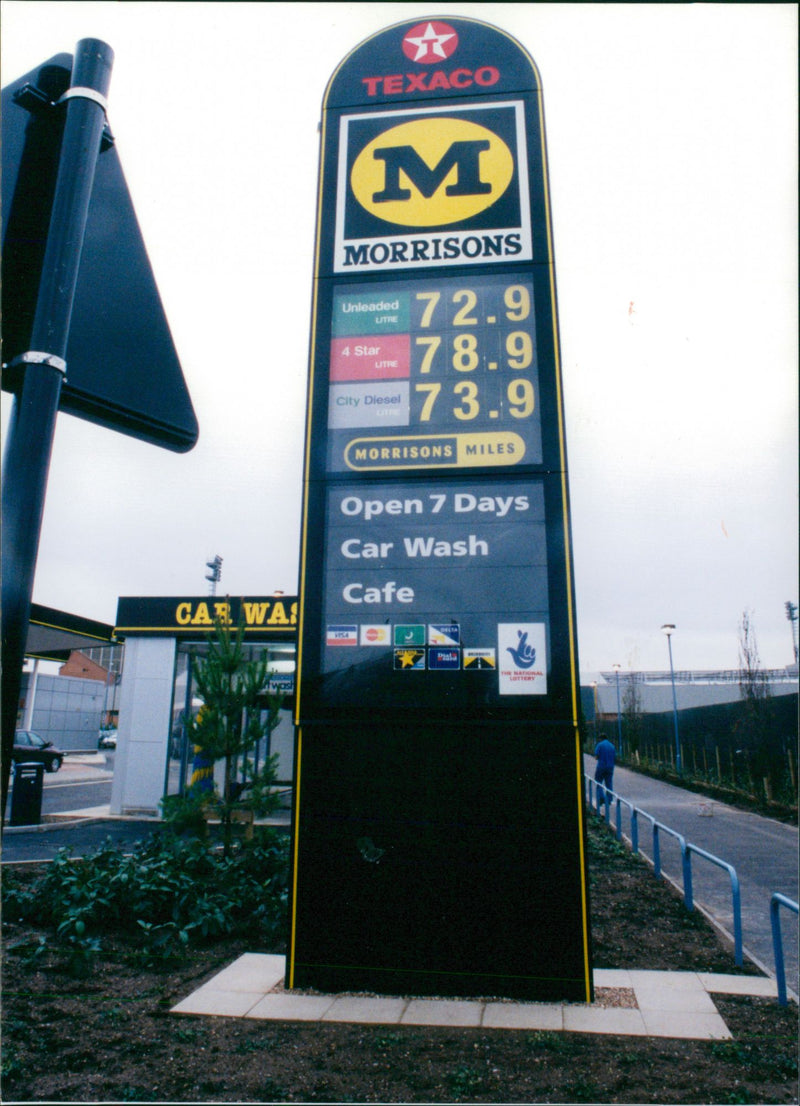
[[[471,119],[423,117],[389,127],[357,156],[351,187],[371,215],[401,227],[444,227],[491,207],[513,178],[513,155]]]

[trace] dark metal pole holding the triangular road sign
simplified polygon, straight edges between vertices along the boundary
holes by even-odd
[[[31,348],[9,424],[2,483],[2,811],[17,724],[22,664],[55,416],[66,372],[72,304],[105,123],[114,52],[96,39],[75,48]]]

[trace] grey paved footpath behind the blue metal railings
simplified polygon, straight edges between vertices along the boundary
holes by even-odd
[[[594,758],[584,757],[584,770],[594,775]],[[682,834],[687,842],[731,864],[739,877],[741,928],[745,950],[770,974],[775,973],[769,902],[773,891],[798,901],[798,828],[773,818],[736,810],[696,792],[684,791],[628,769],[614,772],[614,791]],[[612,806],[612,821],[615,810]],[[615,824],[615,822],[614,822]],[[630,837],[628,812],[623,806],[623,833]],[[640,851],[652,859],[651,824],[640,818]],[[683,887],[680,851],[674,838],[659,834],[662,869]],[[730,877],[716,865],[694,856],[692,877],[695,902],[729,933],[734,932]],[[798,921],[781,908],[787,985],[797,994]]]

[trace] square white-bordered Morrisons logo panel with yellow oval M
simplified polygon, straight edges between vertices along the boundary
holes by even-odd
[[[342,117],[336,272],[531,255],[522,102]]]

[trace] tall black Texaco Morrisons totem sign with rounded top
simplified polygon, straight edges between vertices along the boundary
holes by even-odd
[[[407,21],[321,133],[288,982],[585,1001],[539,75],[485,23]]]

